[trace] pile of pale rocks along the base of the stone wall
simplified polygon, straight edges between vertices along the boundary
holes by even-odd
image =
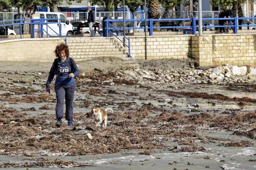
[[[134,81],[138,84],[188,84],[188,83],[245,83],[253,82],[256,77],[255,66],[218,66],[208,68],[206,70],[198,70],[195,68],[185,69],[168,69],[157,71],[146,71],[141,69],[133,70],[117,70],[115,72],[119,76],[111,77],[108,80],[110,85],[114,85],[113,81],[122,79]],[[85,81],[92,81],[86,78]]]

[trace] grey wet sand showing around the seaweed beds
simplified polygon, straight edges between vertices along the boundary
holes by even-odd
[[[14,88],[17,87],[33,87],[36,90],[40,90],[35,95],[39,94],[47,94],[44,92],[44,89],[40,85],[24,85],[20,83],[13,83],[11,84],[2,84],[2,88]],[[177,87],[177,88],[176,88]],[[116,91],[118,94],[111,94],[98,96],[98,95],[88,95],[88,93],[81,93],[81,89],[99,89],[103,91],[108,91],[110,89]],[[75,93],[74,103],[79,105],[82,101],[77,101],[76,99],[86,99],[89,97],[90,101],[100,101],[102,99],[108,98],[107,101],[114,102],[114,105],[106,105],[101,106],[104,107],[111,107],[114,111],[117,109],[117,104],[120,102],[135,102],[130,106],[124,107],[122,112],[130,110],[131,108],[134,110],[139,109],[143,103],[151,103],[153,106],[157,108],[163,108],[166,111],[173,111],[177,110],[182,112],[183,114],[190,115],[197,112],[186,112],[187,104],[198,104],[199,110],[206,112],[208,110],[209,113],[220,115],[221,112],[226,111],[226,109],[241,109],[241,111],[248,111],[254,110],[255,104],[247,103],[246,105],[240,106],[237,105],[238,102],[228,102],[228,101],[218,101],[218,100],[205,100],[200,98],[188,98],[188,97],[172,97],[168,95],[168,91],[188,91],[188,92],[207,92],[209,94],[218,93],[229,96],[229,97],[251,97],[255,98],[256,93],[245,93],[240,91],[229,91],[224,89],[222,85],[174,85],[173,87],[168,87],[167,85],[154,85],[148,86],[148,88],[140,88],[138,86],[130,86],[130,85],[119,85],[119,86],[103,86],[103,87],[88,87],[82,86],[78,87]],[[0,90],[0,94],[6,93],[9,91]],[[132,96],[131,94],[136,94],[136,96]],[[149,95],[150,94],[150,95]],[[54,92],[51,93],[52,97],[54,98]],[[24,94],[14,95],[15,97],[24,96]],[[150,96],[150,99],[148,97]],[[141,99],[142,98],[142,99]],[[168,104],[167,102],[172,100],[172,104]],[[164,100],[164,102],[158,102],[158,100]],[[209,103],[210,102],[210,103]],[[212,102],[215,105],[212,105]],[[55,103],[51,102],[43,102],[43,103],[18,103],[18,104],[10,104],[10,102],[0,102],[0,105],[8,105],[20,111],[20,114],[25,113],[22,112],[21,108],[31,108],[35,107],[36,111],[27,111],[29,113],[28,116],[35,116],[37,114],[48,112],[48,114],[55,114],[54,110],[39,110],[40,106],[48,105],[49,107],[54,107]],[[92,103],[93,104],[93,103]],[[176,106],[173,106],[173,105]],[[64,106],[65,109],[65,106]],[[209,111],[210,110],[210,111]],[[84,114],[90,112],[90,107],[88,108],[81,108],[81,107],[74,107],[75,112],[83,112]],[[160,114],[161,111],[150,111],[151,116],[156,116]],[[198,112],[199,113],[199,112]],[[228,116],[228,115],[225,115]],[[53,120],[55,121],[55,120]],[[111,122],[109,123],[111,124]],[[74,122],[76,125],[76,122]],[[200,141],[196,141],[194,143],[195,146],[203,146],[207,149],[207,152],[196,151],[196,152],[181,152],[176,153],[173,151],[168,151],[168,148],[171,148],[173,145],[178,145],[177,142],[163,142],[165,146],[165,150],[155,149],[153,152],[150,152],[150,155],[141,155],[138,154],[143,150],[124,150],[117,153],[111,154],[95,154],[95,155],[84,155],[84,156],[58,156],[58,157],[45,157],[48,159],[60,159],[64,161],[74,160],[77,163],[90,163],[92,166],[89,167],[66,167],[64,169],[189,169],[189,170],[196,170],[196,169],[221,169],[221,167],[225,169],[254,169],[256,168],[255,162],[249,161],[256,159],[256,140],[245,136],[237,136],[232,135],[233,132],[224,131],[224,130],[212,130],[212,131],[196,131],[201,135],[208,135],[215,138],[220,138],[218,141],[212,141],[207,143],[202,143]],[[252,147],[225,147],[223,146],[221,139],[225,141],[228,139],[230,141],[251,141],[253,143]],[[186,145],[180,145],[180,147],[186,147]],[[33,158],[40,158],[42,157],[40,154],[34,154]],[[12,162],[15,164],[20,164],[27,162],[27,158],[25,156],[7,156],[7,155],[0,155],[0,164],[6,162]],[[220,162],[220,160],[224,162]],[[189,163],[188,163],[189,162]],[[142,165],[143,164],[143,165]],[[188,165],[191,164],[191,165]],[[205,168],[209,166],[208,168]],[[29,169],[38,169],[40,167]],[[60,169],[56,165],[51,168],[41,167],[40,169]],[[6,168],[5,168],[6,169]],[[8,169],[24,169],[24,168],[13,168],[9,167]]]

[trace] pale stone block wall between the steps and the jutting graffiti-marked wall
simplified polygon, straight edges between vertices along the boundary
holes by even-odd
[[[186,59],[193,35],[147,36],[148,59]],[[131,37],[131,55],[145,59],[145,36]]]

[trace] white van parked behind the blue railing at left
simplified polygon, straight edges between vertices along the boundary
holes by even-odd
[[[56,18],[60,18],[61,22],[61,36],[71,36],[73,35],[73,26],[69,23],[68,19],[61,12],[36,12],[40,13],[40,19],[52,19],[47,20],[47,22],[58,22],[58,20],[54,20]],[[13,15],[13,19],[19,19],[18,13]],[[14,21],[15,23],[19,23],[20,21]],[[44,30],[46,31],[46,24],[43,25]],[[52,29],[51,29],[52,28]],[[13,25],[13,30],[16,34],[20,34],[20,25]],[[59,24],[48,24],[48,34],[51,36],[58,36],[54,31],[59,34]],[[30,31],[29,31],[30,32]],[[46,32],[44,32],[46,34]]]

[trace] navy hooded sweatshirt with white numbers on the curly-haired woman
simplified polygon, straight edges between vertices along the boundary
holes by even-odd
[[[52,68],[50,70],[50,73],[49,73],[49,76],[48,76],[48,79],[46,82],[46,89],[50,88],[50,83],[55,74],[56,74],[55,84],[68,86],[75,82],[74,77],[77,77],[79,75],[80,71],[76,66],[75,60],[73,60],[73,59],[71,60],[72,66],[73,66],[73,68],[71,69],[69,60],[70,60],[69,56],[67,56],[66,61],[61,61],[60,58],[57,58],[57,62],[58,62],[57,68],[55,68],[55,62],[53,62]],[[68,77],[68,75],[70,73],[73,73],[74,77],[72,77],[72,78]]]

